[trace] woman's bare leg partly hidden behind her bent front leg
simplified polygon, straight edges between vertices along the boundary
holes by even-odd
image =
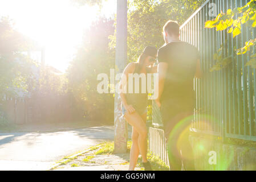
[[[146,123],[147,113],[141,115],[141,118]],[[147,140],[146,140],[147,145]],[[132,147],[130,153],[130,163],[129,163],[129,171],[133,171],[137,164],[137,159],[140,154],[139,149],[139,133],[136,131],[135,127],[132,127]]]

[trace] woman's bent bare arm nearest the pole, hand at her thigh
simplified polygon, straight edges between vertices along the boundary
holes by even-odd
[[[129,113],[135,112],[135,109],[132,107],[132,105],[127,104],[127,100],[126,100],[125,95],[123,93],[123,88],[125,88],[125,86],[127,86],[129,73],[133,73],[134,69],[135,69],[135,63],[129,63],[127,65],[127,67],[124,69],[123,75],[121,76],[121,80],[119,82],[119,90],[120,90],[119,94],[120,94],[120,97],[121,97],[121,101],[123,103],[124,108]]]

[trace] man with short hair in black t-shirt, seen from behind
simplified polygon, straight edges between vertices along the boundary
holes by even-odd
[[[159,49],[159,98],[168,140],[170,169],[194,170],[192,147],[189,143],[189,127],[194,108],[194,77],[201,77],[200,54],[189,43],[179,40],[180,27],[168,21],[164,26],[165,46]]]

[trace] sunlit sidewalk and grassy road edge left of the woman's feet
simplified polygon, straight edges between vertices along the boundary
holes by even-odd
[[[111,143],[112,144],[112,143]],[[60,160],[54,171],[127,171],[129,167],[129,152],[125,154],[112,154],[113,147],[103,143],[91,147],[87,151],[68,156]],[[144,170],[139,165],[136,171]]]

